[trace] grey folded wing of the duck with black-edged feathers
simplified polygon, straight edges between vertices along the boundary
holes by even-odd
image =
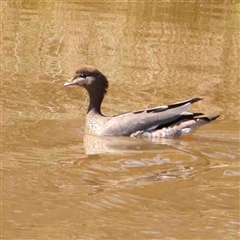
[[[183,102],[137,110],[114,116],[102,127],[100,135],[130,136],[137,131],[147,131],[170,124],[187,113],[191,105],[201,98],[192,98]]]

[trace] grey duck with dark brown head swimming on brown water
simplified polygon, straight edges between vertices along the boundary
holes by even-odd
[[[83,87],[89,96],[85,127],[99,136],[147,138],[179,138],[193,134],[200,126],[220,115],[205,116],[188,112],[192,104],[202,100],[194,97],[182,102],[140,109],[115,116],[105,116],[101,104],[108,90],[107,77],[90,65],[81,66],[64,86]]]

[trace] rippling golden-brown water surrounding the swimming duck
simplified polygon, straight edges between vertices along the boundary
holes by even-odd
[[[239,239],[239,10],[195,3],[3,1],[2,238]],[[82,63],[103,112],[201,96],[193,137],[84,136]]]

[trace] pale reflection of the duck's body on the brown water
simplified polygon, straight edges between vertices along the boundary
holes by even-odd
[[[86,133],[83,137],[85,153],[95,155],[101,153],[132,153],[141,151],[154,151],[159,148],[169,149],[174,146],[173,139],[158,139],[152,144],[152,140],[130,137],[103,137]],[[159,146],[160,144],[160,146]],[[175,147],[174,147],[175,148]]]

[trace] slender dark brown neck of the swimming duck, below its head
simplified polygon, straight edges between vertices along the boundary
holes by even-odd
[[[101,91],[89,91],[89,106],[88,106],[88,112],[101,114],[101,104],[104,98],[104,94]]]

